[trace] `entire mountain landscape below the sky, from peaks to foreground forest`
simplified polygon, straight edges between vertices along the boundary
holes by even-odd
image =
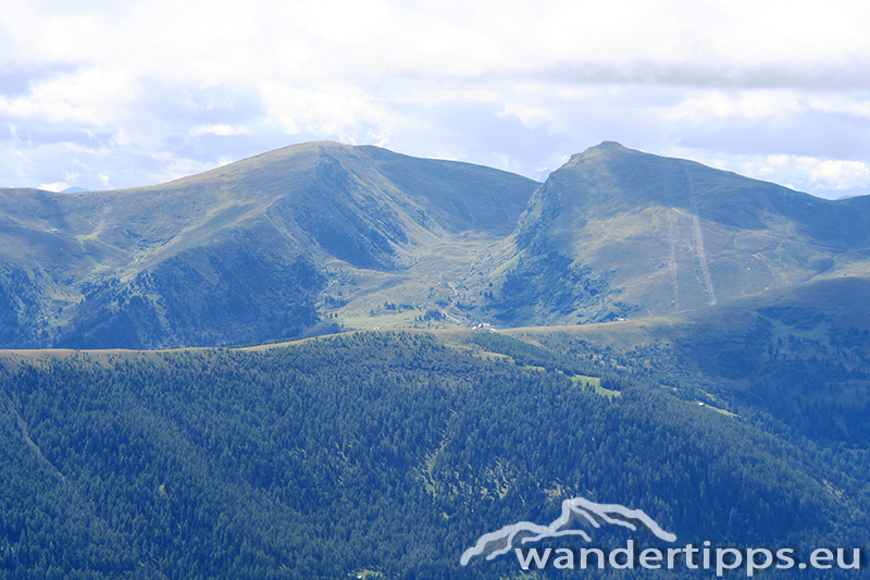
[[[0,208],[0,579],[870,577],[870,197],[321,141]]]

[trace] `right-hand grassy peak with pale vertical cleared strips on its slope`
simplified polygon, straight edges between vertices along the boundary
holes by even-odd
[[[558,252],[588,264],[607,279],[608,300],[655,316],[865,268],[869,205],[605,143],[550,175],[515,238],[530,263]],[[552,322],[585,321],[583,311]]]

